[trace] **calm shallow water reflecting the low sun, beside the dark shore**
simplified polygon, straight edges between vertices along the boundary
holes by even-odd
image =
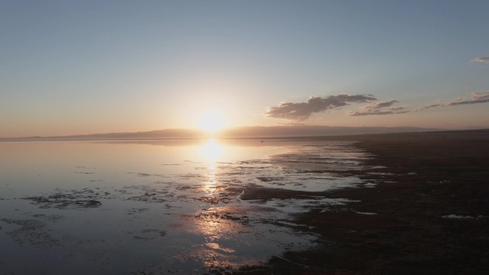
[[[345,141],[1,142],[0,274],[264,263],[314,245],[290,215],[345,204],[318,192],[362,184],[344,172],[367,157]]]

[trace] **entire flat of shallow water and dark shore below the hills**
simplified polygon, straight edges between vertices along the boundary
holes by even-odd
[[[0,274],[485,274],[488,131],[0,144]]]

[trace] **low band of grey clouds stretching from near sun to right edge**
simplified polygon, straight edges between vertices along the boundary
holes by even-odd
[[[489,58],[488,58],[489,59]],[[349,116],[370,116],[370,115],[385,115],[385,114],[405,114],[414,111],[423,111],[425,109],[443,108],[448,106],[457,106],[465,104],[478,104],[489,102],[489,91],[483,93],[474,93],[470,99],[460,97],[453,101],[419,106],[413,109],[408,109],[405,106],[392,106],[399,103],[397,99],[389,101],[375,102],[377,99],[371,94],[338,94],[336,96],[311,97],[307,102],[292,103],[284,102],[279,106],[271,107],[266,114],[267,117],[275,119],[287,119],[289,121],[305,121],[314,113],[320,113],[330,109],[340,109],[342,106],[350,105],[350,103],[368,103],[362,106],[358,111],[350,111]]]

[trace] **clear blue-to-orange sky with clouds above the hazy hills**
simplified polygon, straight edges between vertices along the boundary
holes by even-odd
[[[489,128],[489,1],[0,0],[0,137]],[[210,115],[209,114],[214,114]]]

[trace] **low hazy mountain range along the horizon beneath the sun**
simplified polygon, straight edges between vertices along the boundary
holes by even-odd
[[[344,136],[357,134],[385,134],[402,132],[442,131],[417,127],[343,127],[343,126],[244,126],[225,129],[214,134],[199,129],[165,129],[134,133],[87,134],[76,136],[29,136],[0,139],[19,140],[94,140],[94,139],[207,139],[213,138],[266,138],[292,136]]]

